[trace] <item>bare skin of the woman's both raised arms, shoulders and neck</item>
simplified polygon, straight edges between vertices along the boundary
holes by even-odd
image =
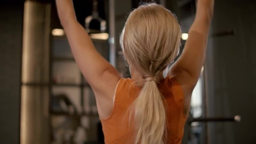
[[[175,77],[183,88],[184,113],[186,115],[189,112],[192,91],[205,60],[213,1],[197,0],[195,21],[189,30],[189,38],[184,51],[168,72],[168,76]],[[72,0],[56,0],[56,5],[75,61],[95,93],[99,116],[101,119],[105,119],[112,112],[115,87],[121,78],[120,74],[96,51],[87,32],[76,20]],[[160,76],[163,77],[163,75]],[[132,66],[131,78],[143,80],[139,72]]]

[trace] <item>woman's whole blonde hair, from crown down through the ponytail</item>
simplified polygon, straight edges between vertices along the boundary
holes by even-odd
[[[180,39],[176,17],[161,5],[144,4],[128,16],[120,45],[128,64],[144,78],[141,92],[131,105],[135,144],[164,144],[167,140],[164,99],[157,83],[179,53]]]

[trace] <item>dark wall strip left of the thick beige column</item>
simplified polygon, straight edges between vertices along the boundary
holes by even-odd
[[[0,4],[0,144],[19,144],[23,8]]]

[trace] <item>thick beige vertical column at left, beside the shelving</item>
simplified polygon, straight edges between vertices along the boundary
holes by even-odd
[[[21,74],[21,144],[48,144],[51,4],[24,4]],[[27,85],[35,83],[37,85]]]

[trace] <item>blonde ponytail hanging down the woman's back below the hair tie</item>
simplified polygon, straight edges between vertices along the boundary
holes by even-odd
[[[134,144],[164,144],[166,114],[155,80],[145,80],[139,96],[133,102],[133,108],[136,128]]]

